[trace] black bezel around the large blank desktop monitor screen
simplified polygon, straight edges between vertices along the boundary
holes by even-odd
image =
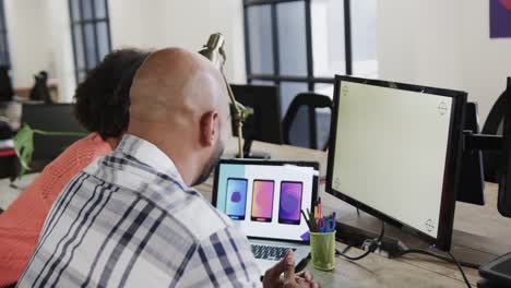
[[[340,88],[343,82],[352,82],[359,84],[367,84],[372,86],[388,87],[404,89],[411,92],[418,92],[424,94],[432,94],[439,96],[445,96],[452,98],[452,112],[450,119],[449,136],[448,136],[448,148],[445,157],[445,169],[443,173],[442,183],[442,197],[441,208],[439,215],[439,227],[437,238],[431,237],[399,219],[393,218],[376,208],[372,208],[346,194],[342,191],[336,191],[332,187],[333,179],[333,157],[335,155],[335,142],[337,134],[337,115],[338,115],[338,103],[340,103]],[[397,228],[405,228],[407,232],[416,235],[419,239],[435,245],[436,248],[449,251],[451,248],[452,230],[454,223],[454,209],[455,201],[457,196],[457,187],[460,184],[460,172],[461,172],[461,159],[462,159],[462,136],[464,127],[464,106],[466,104],[467,94],[461,91],[451,91],[428,86],[419,86],[413,84],[395,83],[381,80],[369,80],[353,77],[346,75],[335,75],[334,83],[334,95],[333,95],[333,110],[331,121],[331,145],[328,155],[328,167],[326,167],[326,193],[377,217],[380,218]]]

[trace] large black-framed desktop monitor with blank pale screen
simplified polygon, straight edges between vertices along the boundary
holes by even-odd
[[[451,245],[466,93],[335,76],[326,192]]]

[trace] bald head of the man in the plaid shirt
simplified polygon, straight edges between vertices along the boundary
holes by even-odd
[[[136,72],[130,98],[128,133],[158,146],[188,184],[203,180],[222,154],[229,128],[221,72],[199,53],[158,50]]]

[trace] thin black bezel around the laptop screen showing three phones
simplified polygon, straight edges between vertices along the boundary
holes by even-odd
[[[215,177],[213,179],[213,195],[211,197],[212,205],[216,208],[216,201],[218,197],[218,177],[219,177],[219,169],[218,167],[223,164],[234,164],[234,165],[268,165],[268,166],[284,166],[284,165],[295,165],[299,167],[310,167],[317,171],[319,171],[319,163],[318,161],[293,161],[293,160],[253,160],[253,159],[221,159],[215,167]],[[318,199],[318,188],[319,188],[319,177],[312,176],[312,199],[311,199],[311,206],[313,206],[314,201]],[[312,207],[310,207],[312,211]],[[301,217],[301,216],[300,216]],[[278,221],[278,220],[277,220]],[[278,239],[278,238],[270,238],[270,237],[253,237],[247,236],[248,239],[252,240],[270,240],[270,241],[283,241],[283,242],[290,242],[290,243],[301,243],[308,244],[309,240],[289,240],[289,239]]]

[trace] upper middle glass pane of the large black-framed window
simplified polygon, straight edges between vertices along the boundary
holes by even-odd
[[[307,75],[305,2],[277,4],[281,75]]]

